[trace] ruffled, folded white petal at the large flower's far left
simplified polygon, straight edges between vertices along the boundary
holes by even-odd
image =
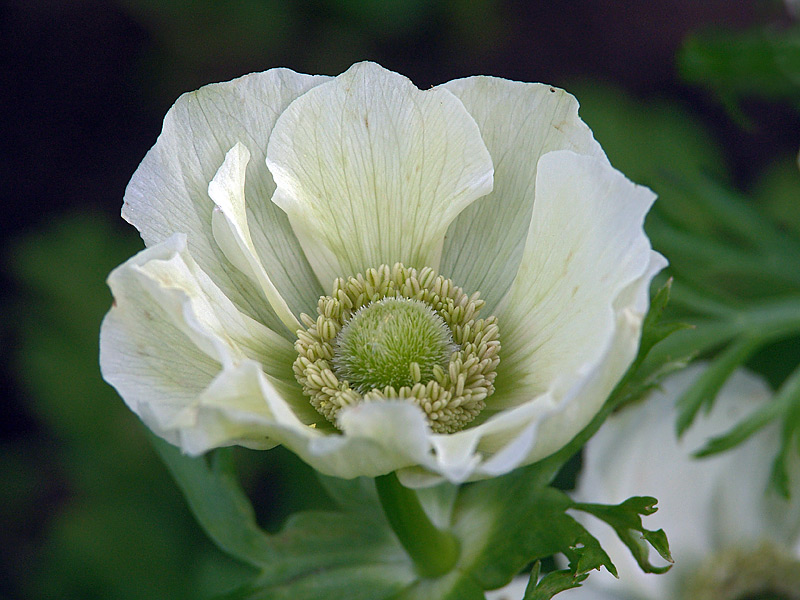
[[[100,332],[103,377],[156,434],[180,444],[181,432],[198,428],[207,388],[248,360],[296,401],[292,345],[236,309],[191,258],[185,236],[140,252],[109,285],[115,304]]]

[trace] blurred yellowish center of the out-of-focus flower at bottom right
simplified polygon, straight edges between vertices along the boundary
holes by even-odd
[[[762,543],[711,556],[686,582],[692,600],[800,600],[800,560],[786,549]]]

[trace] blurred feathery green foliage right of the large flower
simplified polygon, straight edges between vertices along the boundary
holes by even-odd
[[[653,359],[692,352],[711,360],[679,403],[678,431],[711,405],[737,367],[765,366],[773,385],[782,385],[773,403],[702,453],[723,451],[781,419],[773,482],[788,493],[784,461],[800,443],[800,177],[776,171],[756,198],[747,197],[728,182],[709,133],[677,106],[597,86],[577,93],[612,163],[659,195],[646,228],[675,278],[667,314],[695,327],[660,345]]]

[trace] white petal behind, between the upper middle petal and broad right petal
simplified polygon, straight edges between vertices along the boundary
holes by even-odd
[[[536,193],[539,158],[553,150],[604,156],[578,117],[578,102],[540,83],[469,77],[442,86],[478,123],[494,162],[494,189],[464,209],[447,231],[441,271],[491,314],[519,266]]]

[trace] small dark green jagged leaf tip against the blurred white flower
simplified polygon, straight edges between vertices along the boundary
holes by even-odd
[[[648,560],[648,544],[661,555],[661,558],[672,563],[674,561],[669,552],[667,536],[663,529],[650,531],[642,525],[642,516],[651,515],[657,510],[656,502],[655,498],[648,496],[634,496],[617,506],[578,503],[574,508],[594,515],[611,525],[645,573],[665,573],[672,564],[663,567],[651,564]]]

